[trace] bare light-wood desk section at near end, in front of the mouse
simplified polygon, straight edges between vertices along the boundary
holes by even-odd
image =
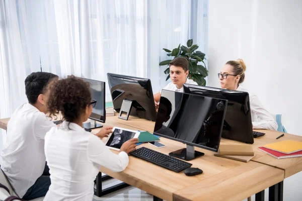
[[[178,190],[175,201],[243,200],[283,180],[284,171],[250,161]]]

